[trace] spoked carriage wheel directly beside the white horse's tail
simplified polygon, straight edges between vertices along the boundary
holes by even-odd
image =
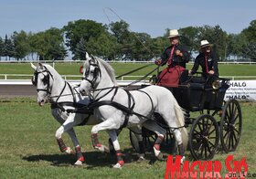
[[[193,121],[189,135],[189,150],[195,160],[213,158],[219,144],[218,122],[209,114],[200,115]]]

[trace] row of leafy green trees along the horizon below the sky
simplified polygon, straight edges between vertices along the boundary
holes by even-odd
[[[158,58],[169,46],[169,29],[162,37],[133,32],[121,20],[109,25],[80,19],[62,28],[32,33],[21,30],[10,37],[0,37],[0,60],[83,60],[85,52],[109,60],[151,60]],[[256,20],[239,34],[229,34],[217,26],[187,26],[178,29],[180,41],[189,52],[197,53],[199,42],[208,39],[219,54],[219,60],[256,61]]]

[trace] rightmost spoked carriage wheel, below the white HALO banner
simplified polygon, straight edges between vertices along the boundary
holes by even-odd
[[[220,142],[225,153],[235,151],[241,134],[242,117],[237,100],[229,100],[223,108],[220,119]]]

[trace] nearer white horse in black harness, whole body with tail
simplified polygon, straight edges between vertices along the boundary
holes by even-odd
[[[164,140],[165,130],[154,125],[155,121],[152,119],[154,112],[157,112],[174,133],[179,154],[183,156],[182,161],[185,160],[187,129],[184,127],[183,111],[172,92],[160,86],[148,86],[132,91],[124,90],[117,87],[114,71],[109,64],[101,58],[89,57],[88,54],[86,58],[80,92],[84,95],[91,95],[94,99],[91,103],[94,115],[102,121],[91,129],[94,148],[101,147],[98,132],[106,130],[112,139],[117,155],[117,163],[113,167],[121,168],[124,163],[123,154],[114,130],[141,124],[157,133],[154,152],[156,157],[161,158],[160,143]]]

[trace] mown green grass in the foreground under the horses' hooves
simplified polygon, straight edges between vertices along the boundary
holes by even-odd
[[[241,103],[243,116],[242,135],[234,160],[246,157],[249,173],[256,174],[256,113],[255,103]],[[75,156],[60,153],[54,137],[59,123],[50,114],[49,105],[38,107],[34,98],[0,99],[0,178],[163,178],[165,161],[155,161],[152,153],[146,160],[136,163],[128,130],[120,135],[125,154],[122,170],[112,169],[115,157],[99,153],[91,146],[91,126],[76,128],[85,156],[82,167],[74,167]],[[197,115],[194,113],[193,115]],[[71,145],[69,137],[63,139]],[[107,144],[105,132],[100,132],[102,143]],[[165,156],[167,153],[165,153]],[[222,163],[221,174],[227,173],[227,153],[218,153],[214,160]],[[187,159],[192,162],[187,151]]]

